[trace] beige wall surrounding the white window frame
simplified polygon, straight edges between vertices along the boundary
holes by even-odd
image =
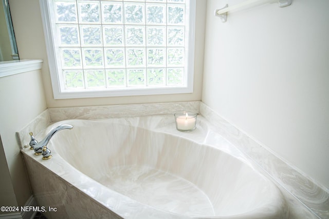
[[[124,96],[104,98],[60,99],[53,98],[44,40],[39,0],[9,0],[13,27],[20,58],[43,59],[43,83],[47,107],[99,106],[159,102],[200,101],[202,92],[204,30],[206,1],[197,0],[196,43],[194,61],[194,91],[188,94]]]

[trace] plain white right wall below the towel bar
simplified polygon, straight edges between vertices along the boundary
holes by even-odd
[[[329,1],[258,4],[222,23],[226,3],[208,0],[202,101],[329,188]]]

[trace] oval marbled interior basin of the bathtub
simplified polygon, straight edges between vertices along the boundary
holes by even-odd
[[[53,136],[53,152],[143,205],[200,218],[278,218],[284,209],[275,184],[207,140],[204,144],[119,119],[63,123],[74,128]]]

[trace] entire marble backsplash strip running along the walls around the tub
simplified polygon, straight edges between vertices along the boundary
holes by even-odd
[[[39,133],[50,123],[61,120],[173,114],[175,111],[185,109],[202,114],[213,125],[216,132],[247,154],[266,174],[269,174],[286,199],[291,202],[292,211],[297,215],[294,218],[305,218],[303,217],[305,215],[307,215],[306,218],[329,218],[329,192],[326,188],[316,185],[310,178],[280,160],[279,157],[267,150],[266,146],[260,145],[247,134],[235,128],[202,102],[47,109],[16,133],[17,141],[23,148],[29,142],[29,131]]]

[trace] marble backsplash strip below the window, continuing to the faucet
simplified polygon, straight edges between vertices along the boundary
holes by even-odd
[[[22,130],[16,132],[16,138],[21,146],[21,149],[23,149],[23,147],[28,145],[30,141],[30,131],[33,131],[35,136],[50,123],[72,119],[93,120],[98,118],[169,115],[174,114],[176,111],[186,109],[191,112],[199,113],[199,104],[199,101],[194,101],[157,104],[49,108],[43,111],[40,115],[36,116],[34,120],[27,124]]]

